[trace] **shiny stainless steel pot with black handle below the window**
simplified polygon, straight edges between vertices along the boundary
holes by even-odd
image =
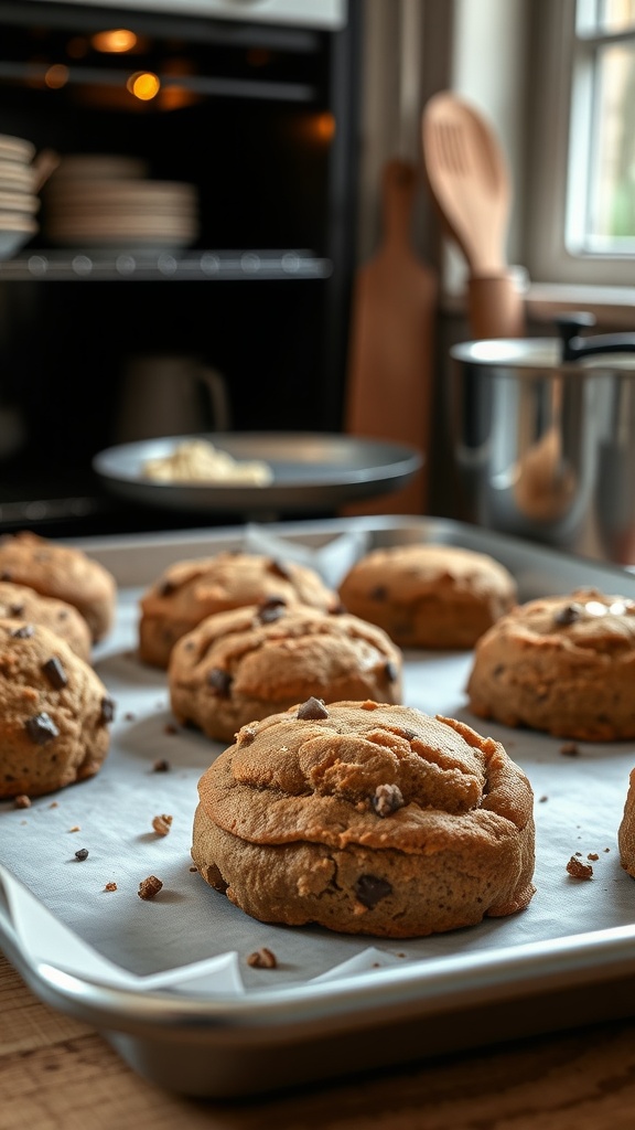
[[[467,341],[451,349],[455,516],[635,564],[635,334]]]

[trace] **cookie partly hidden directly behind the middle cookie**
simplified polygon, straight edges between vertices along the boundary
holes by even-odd
[[[316,572],[296,562],[229,550],[176,562],[141,597],[139,659],[167,668],[176,641],[206,616],[266,600],[327,612],[340,603]]]

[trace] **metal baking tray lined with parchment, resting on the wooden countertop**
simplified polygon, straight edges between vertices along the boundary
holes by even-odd
[[[617,850],[635,741],[579,742],[577,756],[565,756],[557,739],[473,719],[464,695],[471,653],[406,652],[405,699],[490,733],[528,773],[538,889],[527,911],[392,944],[256,922],[190,871],[195,785],[221,746],[171,722],[165,672],[136,657],[138,598],[169,562],[253,547],[254,539],[273,547],[282,539],[327,573],[374,546],[460,545],[507,565],[522,600],[577,585],[635,598],[627,570],[445,519],[385,515],[77,540],[120,585],[118,625],[95,652],[118,716],[111,753],[92,781],[26,810],[0,803],[0,947],[34,992],[94,1025],[155,1084],[214,1097],[635,1015],[635,886]],[[162,758],[169,772],[153,772],[153,759]],[[156,811],[175,814],[160,842],[150,829]],[[78,864],[73,852],[84,845],[89,858]],[[590,881],[566,872],[576,851],[593,854]],[[137,897],[137,879],[148,873],[165,879],[151,903]],[[108,879],[119,889],[106,894]],[[37,937],[28,945],[18,903],[33,913]],[[77,949],[64,948],[69,939]],[[262,947],[277,955],[277,968],[247,964]],[[51,957],[55,951],[60,959]],[[106,973],[108,962],[123,967],[123,980],[103,976],[98,963],[90,965],[94,954]],[[216,980],[171,981],[179,966],[193,963],[195,974],[217,958]]]

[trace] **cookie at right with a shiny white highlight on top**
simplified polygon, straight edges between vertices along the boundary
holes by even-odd
[[[478,718],[557,738],[635,738],[635,601],[576,589],[519,605],[477,643]]]

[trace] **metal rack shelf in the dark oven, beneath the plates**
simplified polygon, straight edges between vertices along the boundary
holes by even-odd
[[[333,264],[308,251],[37,251],[0,263],[2,279],[325,279]]]

